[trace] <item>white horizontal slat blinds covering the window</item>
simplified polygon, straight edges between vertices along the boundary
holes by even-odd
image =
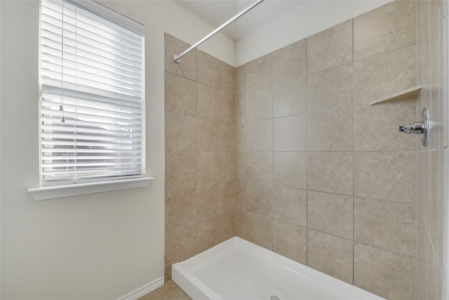
[[[143,27],[70,2],[41,1],[41,185],[142,177]]]

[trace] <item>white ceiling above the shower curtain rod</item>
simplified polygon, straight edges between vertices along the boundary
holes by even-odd
[[[232,18],[236,13],[253,4],[255,0],[176,0],[188,11],[205,20],[213,27],[219,27]],[[238,41],[242,37],[254,32],[284,13],[308,1],[303,0],[265,0],[231,25],[225,27],[222,33]]]

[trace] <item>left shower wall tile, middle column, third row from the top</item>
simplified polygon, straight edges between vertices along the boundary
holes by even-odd
[[[198,151],[222,150],[222,122],[214,119],[198,118]]]

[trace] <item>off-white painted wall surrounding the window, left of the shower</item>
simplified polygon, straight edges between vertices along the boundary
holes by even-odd
[[[163,278],[163,32],[213,28],[172,1],[101,1],[146,27],[147,188],[36,202],[39,1],[0,1],[1,299],[117,299]],[[217,35],[206,51],[234,64]],[[174,55],[175,53],[173,53]]]

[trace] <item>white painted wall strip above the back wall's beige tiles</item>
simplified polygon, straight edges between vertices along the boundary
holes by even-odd
[[[235,66],[248,63],[390,1],[304,1],[304,4],[286,15],[280,15],[237,41]]]

